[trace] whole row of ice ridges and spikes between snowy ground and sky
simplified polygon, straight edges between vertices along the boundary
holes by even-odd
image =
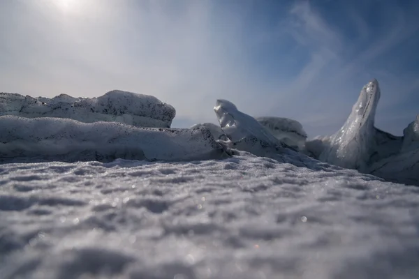
[[[110,91],[91,99],[64,94],[49,99],[0,93],[0,115],[13,115],[0,117],[0,161],[203,160],[239,150],[298,167],[321,170],[328,163],[419,185],[419,116],[403,137],[385,133],[374,127],[379,98],[372,80],[335,135],[307,140],[299,122],[255,119],[228,100],[216,100],[219,126],[169,129],[175,109],[153,96]]]

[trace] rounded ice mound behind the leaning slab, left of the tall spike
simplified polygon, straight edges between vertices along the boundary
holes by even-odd
[[[284,117],[258,117],[256,120],[272,133],[278,140],[288,146],[302,150],[307,139],[307,133],[300,122]]]

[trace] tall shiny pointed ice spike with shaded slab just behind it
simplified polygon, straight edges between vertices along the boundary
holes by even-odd
[[[372,163],[399,152],[402,137],[374,127],[379,98],[378,82],[372,80],[362,88],[344,126],[335,135],[323,141],[325,146],[318,156],[319,160],[367,172]]]

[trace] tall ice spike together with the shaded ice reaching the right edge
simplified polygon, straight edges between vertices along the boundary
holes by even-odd
[[[372,80],[362,88],[344,126],[316,137],[304,153],[326,163],[373,174],[388,181],[419,185],[419,116],[397,137],[374,127],[380,89]]]

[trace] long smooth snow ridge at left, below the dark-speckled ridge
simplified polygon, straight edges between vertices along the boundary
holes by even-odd
[[[0,116],[0,160],[205,160],[225,158],[205,127],[139,128],[116,122]]]

